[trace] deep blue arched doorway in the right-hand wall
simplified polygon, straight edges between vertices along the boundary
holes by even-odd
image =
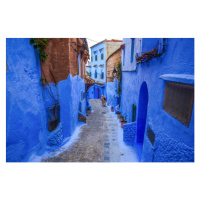
[[[143,82],[140,87],[139,102],[138,102],[138,115],[137,115],[137,135],[136,135],[136,150],[139,160],[142,157],[144,133],[146,127],[148,106],[148,89],[146,82]]]

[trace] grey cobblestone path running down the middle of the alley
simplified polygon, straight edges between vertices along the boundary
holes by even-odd
[[[46,162],[119,162],[117,121],[99,99],[89,100],[93,112],[87,116],[78,140],[60,155]]]

